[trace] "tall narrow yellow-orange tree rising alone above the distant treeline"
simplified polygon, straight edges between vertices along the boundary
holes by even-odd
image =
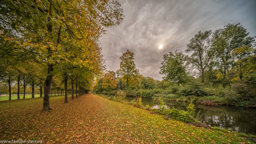
[[[122,80],[126,82],[126,88],[129,88],[129,83],[133,82],[131,79],[137,80],[139,75],[139,70],[136,69],[133,61],[133,55],[134,54],[127,49],[120,57],[120,69],[117,70],[118,75],[122,76]]]

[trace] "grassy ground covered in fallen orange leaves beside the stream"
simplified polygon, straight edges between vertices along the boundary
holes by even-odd
[[[0,140],[42,143],[250,143],[238,133],[188,126],[165,120],[120,102],[86,94],[64,104],[50,97],[53,110],[42,110],[42,98],[0,102]],[[251,142],[252,143],[252,142]]]

